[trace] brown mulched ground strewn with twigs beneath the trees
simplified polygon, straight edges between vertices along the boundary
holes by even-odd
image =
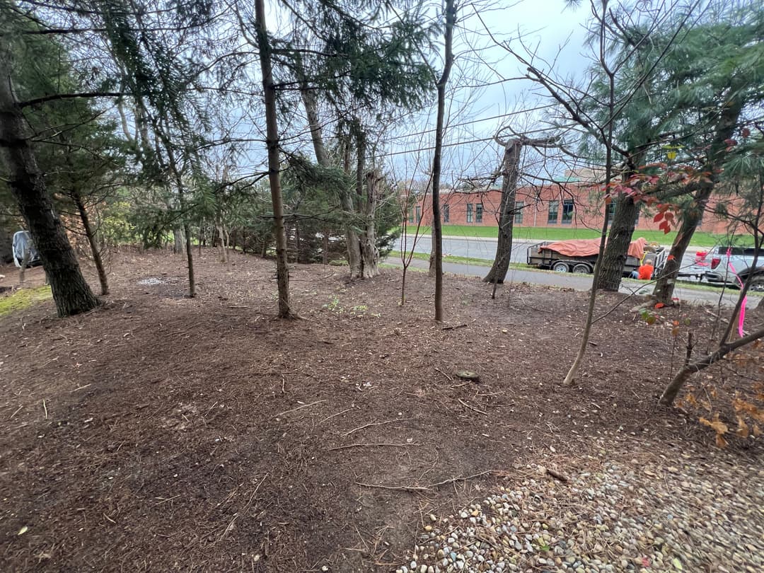
[[[400,270],[348,283],[298,265],[302,319],[280,321],[273,262],[216,257],[198,257],[197,299],[183,258],[128,250],[102,309],[0,318],[3,570],[394,571],[429,514],[513,487],[529,464],[575,475],[603,442],[626,465],[639,451],[760,463],[752,439],[720,452],[697,416],[656,406],[685,353],[672,321],[709,332],[710,309],[648,325],[621,304],[563,388],[586,293],[504,285],[492,300],[447,277],[438,324],[423,274],[400,306]],[[723,378],[724,404],[760,374],[746,361],[704,376]]]

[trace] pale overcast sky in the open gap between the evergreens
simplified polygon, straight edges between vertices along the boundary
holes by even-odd
[[[518,131],[538,128],[534,124],[543,110],[521,111],[549,103],[539,96],[541,92],[533,83],[513,79],[524,76],[525,70],[507,50],[496,45],[497,41],[509,42],[520,53],[536,53],[536,66],[545,70],[553,66],[558,77],[580,77],[588,66],[584,23],[589,15],[588,3],[568,8],[564,0],[496,2],[493,8],[481,10],[479,17],[472,9],[461,13],[447,112],[451,127],[444,155],[446,185],[461,176],[495,170],[503,150],[493,141],[484,140],[490,140],[502,125],[511,124]],[[513,112],[521,113],[502,117]],[[387,153],[392,155],[381,160],[397,180],[426,178],[432,162],[434,127],[432,107],[417,121],[395,130],[387,145]],[[529,157],[529,163],[538,162],[538,156]],[[547,170],[561,175],[563,167],[556,163]]]

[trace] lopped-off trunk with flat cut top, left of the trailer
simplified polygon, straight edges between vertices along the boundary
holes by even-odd
[[[523,151],[522,141],[514,139],[504,145],[502,162],[501,202],[499,204],[499,236],[496,244],[496,257],[485,283],[503,283],[507,277],[512,258],[512,233],[515,224],[515,197],[517,179],[520,176],[520,155]]]

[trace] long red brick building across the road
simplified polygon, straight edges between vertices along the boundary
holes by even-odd
[[[475,225],[497,227],[501,189],[442,189],[441,215],[444,225]],[[719,235],[727,232],[729,222],[713,214],[717,199],[711,199],[707,214],[698,231]],[[636,220],[636,231],[659,230],[653,222],[654,212],[645,206]],[[432,223],[432,196],[419,196],[409,209],[408,222],[422,225]],[[543,187],[523,187],[517,190],[515,227],[594,228],[602,227],[602,202],[591,186],[581,183],[554,183]]]

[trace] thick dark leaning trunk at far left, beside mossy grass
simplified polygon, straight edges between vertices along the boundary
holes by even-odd
[[[59,316],[87,312],[95,309],[99,301],[83,277],[60,219],[53,213],[53,204],[25,137],[24,116],[11,91],[4,51],[0,51],[0,154],[8,169],[8,186],[50,279]]]

